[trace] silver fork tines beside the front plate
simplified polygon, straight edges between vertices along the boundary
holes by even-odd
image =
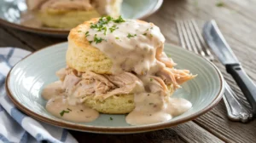
[[[184,49],[188,49],[195,54],[201,54],[207,60],[213,60],[213,56],[201,36],[201,31],[195,20],[177,20],[177,32],[181,46]]]

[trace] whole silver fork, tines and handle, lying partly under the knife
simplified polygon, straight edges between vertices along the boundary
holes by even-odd
[[[177,20],[177,32],[183,49],[188,49],[195,54],[200,54],[207,60],[214,60],[211,51],[201,36],[201,31],[196,25],[195,20]],[[253,112],[236,98],[236,94],[225,81],[224,86],[225,91],[223,99],[228,117],[233,121],[247,123],[253,118]]]

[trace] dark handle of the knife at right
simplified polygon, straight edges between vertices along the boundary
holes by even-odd
[[[247,76],[247,73],[239,64],[226,65],[226,70],[235,79],[242,93],[246,96],[248,102],[253,108],[253,114],[256,115],[256,86]]]

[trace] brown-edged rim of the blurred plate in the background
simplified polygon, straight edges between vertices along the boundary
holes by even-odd
[[[160,9],[163,2],[164,2],[164,0],[158,0],[158,2],[154,5],[154,8],[151,11],[149,11],[147,14],[144,14],[141,17],[138,17],[137,19],[144,20],[149,15],[156,13]],[[9,22],[8,20],[4,20],[2,18],[0,18],[0,24],[2,24],[3,26],[8,26],[11,28],[18,29],[20,31],[29,31],[32,33],[37,33],[37,34],[39,32],[39,34],[44,34],[44,35],[54,34],[55,36],[67,36],[67,34],[70,31],[70,30],[60,30],[60,29],[54,29],[54,28],[50,29],[50,28],[38,28],[38,27],[31,27],[31,26],[23,26],[20,24]]]

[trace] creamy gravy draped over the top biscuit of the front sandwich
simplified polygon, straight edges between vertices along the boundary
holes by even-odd
[[[108,29],[106,35],[103,31],[90,28],[86,38],[112,59],[113,74],[133,71],[137,75],[144,75],[148,71],[156,72],[159,66],[164,66],[155,60],[156,50],[162,48],[165,42],[159,27],[137,20],[126,20],[122,23],[110,21],[104,26]],[[109,28],[113,26],[117,29],[111,32]],[[94,42],[95,37],[102,37],[102,42]]]

